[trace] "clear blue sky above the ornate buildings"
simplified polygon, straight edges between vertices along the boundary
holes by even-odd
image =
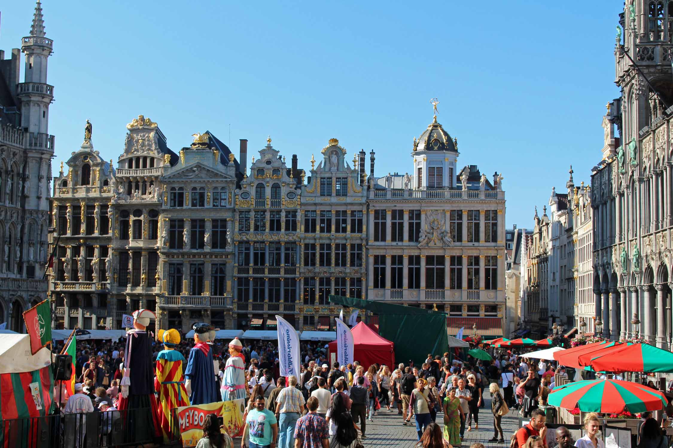
[[[411,170],[432,120],[458,138],[462,165],[505,177],[507,226],[532,227],[573,165],[590,181],[614,85],[623,1],[232,2],[46,0],[55,41],[54,171],[87,118],[105,159],[143,114],[174,150],[210,130],[248,156],[266,144],[308,171],[332,137],[376,151],[376,174]],[[34,3],[6,1],[0,48],[28,35]],[[22,67],[23,77],[23,67]],[[249,161],[248,161],[249,162]],[[249,165],[249,164],[248,164]],[[369,161],[367,161],[367,169]]]

